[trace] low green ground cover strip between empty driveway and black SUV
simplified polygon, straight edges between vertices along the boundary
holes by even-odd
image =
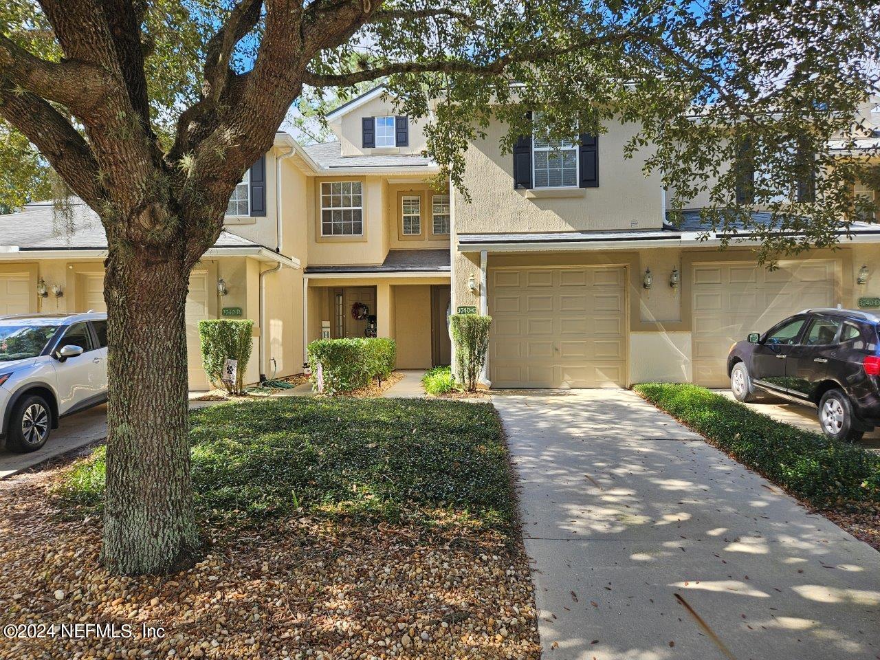
[[[776,422],[697,385],[633,389],[797,497],[818,506],[880,502],[880,456],[873,452]]]

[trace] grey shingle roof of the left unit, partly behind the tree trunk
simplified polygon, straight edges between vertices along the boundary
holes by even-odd
[[[0,215],[0,250],[4,247],[18,247],[22,252],[103,250],[106,246],[106,234],[98,214],[78,199],[70,202],[70,216],[56,210],[53,202],[33,202],[17,213]],[[223,231],[214,246],[248,247],[256,244]]]

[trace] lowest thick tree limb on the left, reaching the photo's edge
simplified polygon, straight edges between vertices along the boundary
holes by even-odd
[[[31,93],[0,89],[0,116],[18,128],[45,156],[55,172],[85,203],[103,199],[98,163],[83,136],[61,113]]]

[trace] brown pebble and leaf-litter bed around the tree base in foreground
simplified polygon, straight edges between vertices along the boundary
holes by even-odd
[[[0,658],[540,656],[522,547],[496,532],[290,517],[210,529],[209,554],[182,573],[114,577],[99,566],[99,520],[62,519],[49,503],[55,475],[2,488],[0,626],[115,624],[132,636],[6,638]]]

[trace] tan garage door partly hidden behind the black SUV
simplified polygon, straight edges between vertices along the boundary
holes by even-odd
[[[763,333],[808,307],[835,304],[834,261],[783,261],[768,271],[755,263],[693,265],[693,382],[730,385],[730,344]]]

